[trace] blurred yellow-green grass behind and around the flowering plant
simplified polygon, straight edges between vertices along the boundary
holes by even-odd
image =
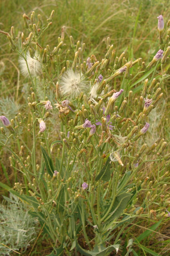
[[[52,10],[55,10],[53,25],[42,36],[41,46],[45,47],[49,44],[51,49],[54,48],[58,36],[61,36],[61,28],[64,27],[65,44],[69,45],[69,37],[73,36],[75,41],[79,40],[80,43],[86,44],[86,57],[94,54],[98,60],[101,60],[106,53],[106,39],[109,36],[117,56],[125,52],[128,60],[142,58],[145,62],[151,61],[158,51],[157,16],[163,15],[165,24],[170,18],[170,2],[167,0],[0,0],[0,29],[9,32],[11,26],[14,26],[16,36],[19,37],[21,32],[25,31],[22,20],[24,13],[29,16],[35,11],[46,20]],[[168,66],[166,68],[168,69]],[[168,82],[169,80],[166,80],[162,84],[163,100],[152,114],[152,138],[148,136],[148,145],[152,144],[154,137],[169,141]],[[139,84],[135,85],[136,88],[137,86]],[[11,50],[7,38],[0,36],[0,114],[11,119],[18,112],[27,113],[25,102],[29,87],[29,80],[20,75],[17,53]],[[55,92],[49,94],[55,99]],[[51,117],[51,123],[54,124],[54,120],[57,123],[56,116]],[[57,125],[54,125],[54,132],[57,134]],[[17,143],[13,146],[17,147]],[[157,170],[152,169],[152,164],[144,171],[148,176],[151,173],[152,177],[157,175]],[[9,155],[2,148],[0,148],[0,172],[1,181],[10,186],[19,179],[17,173],[11,171]],[[7,195],[7,192],[1,191],[1,195]],[[148,222],[140,220],[134,223],[129,232],[133,238],[136,238],[152,225],[151,220]],[[144,236],[140,240],[139,255],[169,255],[169,234],[170,222],[165,218],[156,231],[150,234],[149,239]],[[48,242],[46,240],[42,243],[42,239],[43,237],[40,237],[34,247],[33,252],[36,252],[34,255],[47,254]],[[148,248],[147,254],[142,246]],[[155,254],[150,253],[149,248]]]

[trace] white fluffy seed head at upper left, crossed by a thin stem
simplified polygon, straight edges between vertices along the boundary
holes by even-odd
[[[28,63],[28,68],[29,68],[31,76],[40,76],[42,74],[42,62],[39,57],[39,54],[37,52],[35,52],[35,57],[33,59],[33,58],[31,58],[30,53],[27,52],[26,60]],[[21,73],[23,74],[23,76],[29,76],[28,68],[27,68],[26,61],[24,60],[24,58],[20,57],[18,59],[18,62],[19,62],[19,67],[21,69]]]

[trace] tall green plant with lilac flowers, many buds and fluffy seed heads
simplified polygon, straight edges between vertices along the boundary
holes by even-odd
[[[6,141],[0,144],[11,152],[11,167],[23,175],[23,183],[15,183],[14,188],[0,185],[30,204],[29,213],[51,239],[49,255],[77,255],[77,251],[89,256],[112,251],[129,255],[133,240],[127,235],[129,242],[121,245],[121,237],[130,223],[170,216],[167,143],[155,138],[149,147],[145,141],[149,116],[163,95],[161,85],[170,77],[163,71],[169,61],[170,20],[165,34],[163,17],[158,17],[159,46],[146,65],[141,58],[127,61],[124,52],[116,56],[109,37],[101,61],[94,55],[85,60],[85,44],[75,45],[70,36],[68,49],[63,28],[58,45],[43,49],[41,35],[52,25],[53,15],[54,11],[45,26],[41,15],[36,20],[35,12],[31,17],[24,14],[29,34],[22,33],[19,39],[14,27],[11,35],[0,31],[18,52],[20,69],[31,82],[28,116],[19,113],[11,122],[0,116],[11,133],[1,127]],[[135,88],[141,93],[138,98],[131,91],[136,79],[140,79]],[[38,97],[37,82],[43,98]],[[54,88],[54,97],[48,99],[47,92]],[[52,111],[59,116],[60,138],[53,132],[57,124],[48,125]],[[20,129],[28,133],[28,144],[19,136]],[[16,139],[19,152],[10,147]],[[155,180],[142,171],[150,162],[157,172]]]

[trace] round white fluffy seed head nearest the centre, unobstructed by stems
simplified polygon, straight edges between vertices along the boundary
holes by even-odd
[[[80,92],[86,92],[89,88],[89,81],[78,71],[68,69],[59,80],[60,92],[63,97],[75,99]]]

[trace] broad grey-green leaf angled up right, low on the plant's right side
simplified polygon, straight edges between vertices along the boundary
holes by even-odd
[[[109,223],[111,220],[118,219],[118,217],[123,213],[123,210],[126,208],[126,205],[129,202],[131,196],[132,195],[129,193],[122,193],[116,196],[112,207],[112,216],[104,223],[104,225]]]

